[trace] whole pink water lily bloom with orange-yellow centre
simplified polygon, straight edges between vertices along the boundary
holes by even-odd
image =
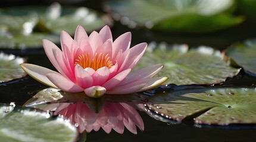
[[[84,91],[94,98],[104,93],[133,93],[161,85],[167,78],[153,76],[163,64],[131,72],[147,46],[141,43],[130,48],[131,38],[131,33],[127,32],[113,41],[107,25],[88,37],[79,25],[74,39],[65,31],[61,32],[61,50],[51,41],[43,40],[43,49],[58,72],[35,64],[24,63],[21,67],[45,85],[65,92]]]

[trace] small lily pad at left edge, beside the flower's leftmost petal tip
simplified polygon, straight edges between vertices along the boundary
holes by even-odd
[[[19,79],[26,76],[26,73],[21,69],[20,64],[26,62],[21,57],[15,57],[13,54],[8,55],[0,53],[0,83],[8,82],[13,79]]]

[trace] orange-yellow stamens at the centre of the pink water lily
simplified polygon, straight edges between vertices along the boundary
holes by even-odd
[[[108,56],[108,54],[104,55],[103,53],[95,53],[93,59],[90,59],[89,54],[81,54],[76,60],[74,60],[74,65],[76,64],[79,64],[83,69],[91,67],[94,70],[98,70],[104,66],[108,68],[113,66],[110,56]]]

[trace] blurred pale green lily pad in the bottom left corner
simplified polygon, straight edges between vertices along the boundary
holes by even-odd
[[[1,141],[74,141],[76,127],[49,112],[21,106],[0,105]]]

